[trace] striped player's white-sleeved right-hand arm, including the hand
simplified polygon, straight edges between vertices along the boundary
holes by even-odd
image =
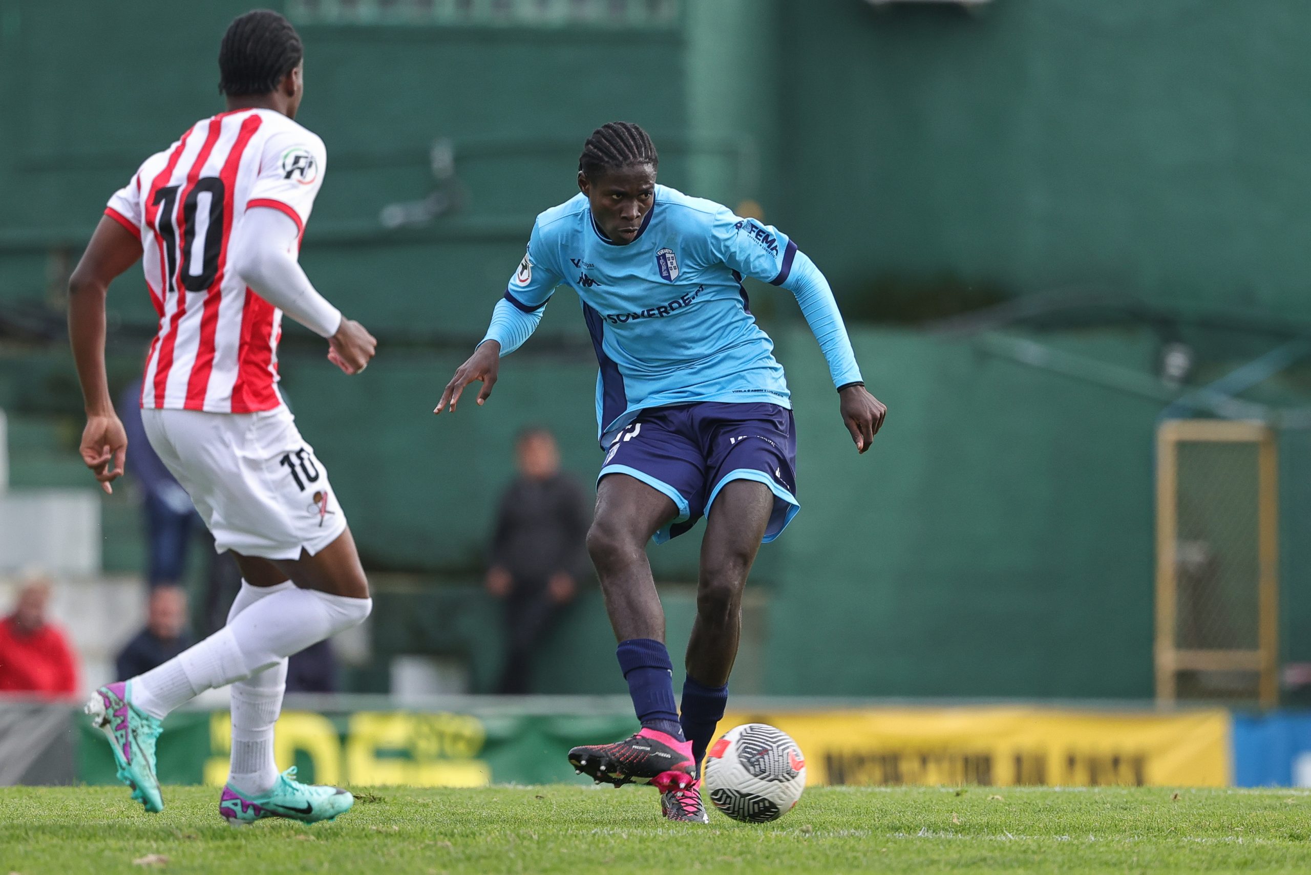
[[[300,228],[278,210],[248,210],[232,232],[232,270],[260,296],[326,338],[328,360],[346,373],[368,365],[378,341],[319,293],[296,261]]]

